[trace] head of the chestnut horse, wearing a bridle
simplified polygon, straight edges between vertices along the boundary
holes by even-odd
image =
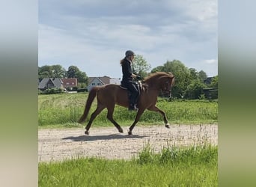
[[[166,76],[161,76],[159,81],[162,96],[171,97],[171,88],[174,85],[174,75],[172,73],[167,73]]]

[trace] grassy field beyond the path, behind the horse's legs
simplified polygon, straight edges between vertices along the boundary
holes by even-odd
[[[88,93],[61,93],[38,96],[38,124],[40,127],[67,127],[79,126],[76,123],[85,108]],[[96,108],[96,99],[93,102],[90,113]],[[217,123],[218,102],[207,100],[174,100],[171,102],[159,98],[156,104],[165,111],[171,124],[201,124]],[[94,120],[94,126],[112,126],[106,118],[107,111],[104,109]],[[135,119],[135,112],[127,111],[127,108],[116,105],[114,119],[121,126],[130,125]],[[85,123],[88,122],[88,119]],[[153,111],[145,111],[138,125],[163,123],[161,114]]]

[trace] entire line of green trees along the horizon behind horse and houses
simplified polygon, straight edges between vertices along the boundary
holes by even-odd
[[[132,63],[133,72],[142,78],[150,73],[157,71],[171,72],[175,76],[175,85],[172,88],[172,96],[180,99],[204,99],[204,91],[207,88],[218,89],[218,76],[214,76],[211,82],[204,82],[207,79],[207,73],[203,70],[199,72],[194,68],[186,67],[181,61],[166,61],[161,66],[154,67],[150,70],[150,64],[142,55],[136,55]],[[38,79],[43,78],[76,78],[79,82],[79,88],[86,88],[88,85],[88,76],[85,72],[79,70],[76,66],[70,66],[67,70],[61,65],[45,65],[38,67]],[[217,99],[218,93],[211,93],[211,99]]]

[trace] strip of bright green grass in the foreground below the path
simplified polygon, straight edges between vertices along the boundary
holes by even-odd
[[[40,162],[39,186],[217,186],[218,148],[144,147],[129,161],[77,158]]]

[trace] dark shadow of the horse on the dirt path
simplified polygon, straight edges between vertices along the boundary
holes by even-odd
[[[72,141],[97,141],[97,140],[113,140],[122,138],[144,138],[146,135],[79,135],[79,136],[68,136],[62,138],[62,140],[72,140]]]

